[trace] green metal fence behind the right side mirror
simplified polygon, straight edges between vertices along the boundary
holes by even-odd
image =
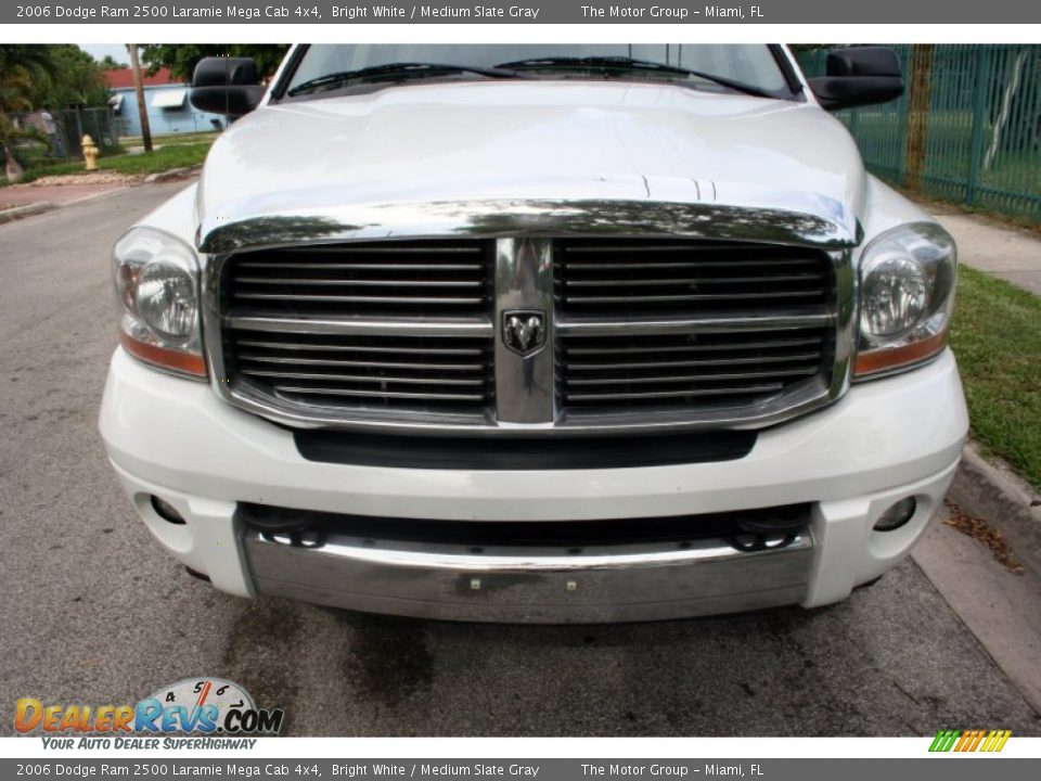
[[[907,190],[1041,221],[1041,46],[895,46],[899,101],[838,112],[864,164]],[[827,51],[800,52],[807,76]]]

